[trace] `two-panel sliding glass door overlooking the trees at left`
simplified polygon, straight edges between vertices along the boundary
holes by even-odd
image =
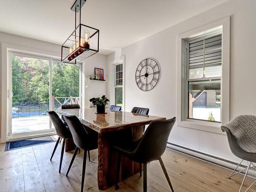
[[[47,110],[80,104],[80,65],[9,52],[8,139],[54,131]]]

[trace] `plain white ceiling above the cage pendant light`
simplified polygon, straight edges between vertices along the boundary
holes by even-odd
[[[82,24],[100,30],[103,54],[227,0],[87,0]],[[1,0],[0,31],[62,45],[74,30],[74,0]]]

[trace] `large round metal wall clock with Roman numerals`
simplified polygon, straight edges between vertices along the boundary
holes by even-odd
[[[139,89],[142,91],[152,90],[159,77],[159,65],[154,59],[146,58],[139,63],[135,73],[135,80]]]

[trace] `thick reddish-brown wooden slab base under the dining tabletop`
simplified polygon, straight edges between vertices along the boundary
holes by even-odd
[[[127,134],[130,132],[131,134]],[[98,136],[98,188],[105,190],[115,184],[117,152],[113,151],[113,141],[136,141],[143,135],[143,126],[131,127],[130,130],[122,130],[113,133],[99,134]],[[130,137],[130,138],[127,138]],[[117,139],[118,138],[118,139]],[[122,157],[119,180],[124,180],[139,173],[139,163]]]

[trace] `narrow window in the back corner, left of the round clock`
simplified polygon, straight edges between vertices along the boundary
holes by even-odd
[[[123,108],[123,65],[115,65],[115,105]]]

